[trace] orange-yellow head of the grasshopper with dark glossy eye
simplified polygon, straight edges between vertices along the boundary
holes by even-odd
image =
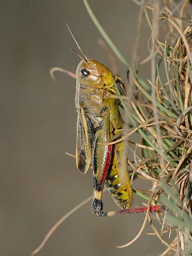
[[[115,78],[115,77],[114,77]],[[113,86],[113,74],[102,63],[95,60],[82,60],[76,70],[76,79],[79,84],[94,88],[111,88]]]

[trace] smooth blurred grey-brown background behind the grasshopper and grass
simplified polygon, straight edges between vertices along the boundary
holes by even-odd
[[[131,60],[139,6],[127,0],[89,0],[93,12],[127,60]],[[0,254],[30,255],[49,228],[63,214],[92,195],[92,172],[82,175],[75,159],[75,81],[52,67],[76,71],[79,58],[68,22],[90,58],[110,68],[98,45],[101,38],[81,0],[1,1],[1,184]],[[150,35],[144,26],[141,58],[148,55]],[[125,81],[126,68],[116,60]],[[149,66],[150,67],[150,66]],[[148,68],[141,70],[147,74]],[[126,81],[125,81],[126,82]],[[145,188],[145,182],[134,187]],[[134,206],[141,200],[134,196]],[[118,209],[108,193],[106,210]],[[91,202],[70,216],[38,255],[157,255],[161,242],[143,234],[129,248],[144,215],[101,220],[91,212]],[[145,228],[148,232],[150,228]],[[144,233],[145,233],[144,232]]]

